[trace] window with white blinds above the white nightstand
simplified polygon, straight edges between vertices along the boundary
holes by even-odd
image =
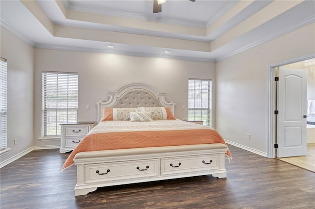
[[[42,73],[42,136],[61,135],[61,123],[78,119],[78,74]]]

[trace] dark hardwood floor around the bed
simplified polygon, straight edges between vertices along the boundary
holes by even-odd
[[[229,145],[226,179],[191,177],[98,188],[74,196],[69,154],[36,150],[1,168],[1,209],[311,209],[315,173]]]

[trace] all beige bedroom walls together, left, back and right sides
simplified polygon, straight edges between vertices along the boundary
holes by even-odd
[[[34,49],[1,27],[1,56],[8,59],[8,147],[1,161],[32,146],[58,147],[42,141],[41,72],[79,73],[79,120],[96,119],[95,102],[122,85],[143,82],[177,103],[175,116],[187,118],[188,78],[213,79],[213,124],[233,143],[266,153],[268,65],[315,52],[315,24],[218,63],[118,54]],[[85,105],[91,109],[86,110]],[[185,105],[183,110],[181,107]],[[217,115],[215,115],[217,114]],[[216,120],[215,120],[216,119]],[[246,139],[246,133],[251,139]],[[18,145],[13,144],[18,138]]]

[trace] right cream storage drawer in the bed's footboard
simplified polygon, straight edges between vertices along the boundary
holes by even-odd
[[[219,169],[219,155],[171,157],[161,159],[161,175]]]

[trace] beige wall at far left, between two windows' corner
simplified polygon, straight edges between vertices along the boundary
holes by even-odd
[[[0,43],[0,56],[7,59],[7,147],[11,148],[1,156],[2,162],[33,146],[34,49],[2,26]]]

